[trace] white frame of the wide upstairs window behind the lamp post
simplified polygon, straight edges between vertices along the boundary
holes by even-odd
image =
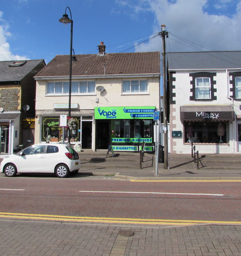
[[[74,84],[78,83],[78,92],[73,92]],[[94,83],[94,84],[93,84]],[[54,84],[54,91],[48,92],[49,84]],[[67,85],[68,84],[68,85]],[[67,86],[66,86],[67,85]],[[64,92],[64,88],[65,92]],[[80,92],[81,86],[86,86],[86,92]],[[62,92],[56,93],[57,88],[62,88]],[[92,90],[91,90],[92,88]],[[69,81],[48,81],[46,83],[46,96],[63,96],[69,95]],[[84,81],[72,81],[71,82],[71,95],[96,95],[96,81],[95,80],[84,80]]]

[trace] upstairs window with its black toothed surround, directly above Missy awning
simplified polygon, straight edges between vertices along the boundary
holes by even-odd
[[[191,73],[189,76],[192,76],[190,100],[217,100],[215,96],[217,89],[214,88],[216,81],[213,80],[216,73],[200,72]]]

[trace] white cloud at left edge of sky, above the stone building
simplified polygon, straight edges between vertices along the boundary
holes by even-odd
[[[8,31],[8,24],[2,19],[2,12],[0,11],[0,61],[1,60],[28,60],[26,56],[19,56],[12,54],[10,45],[7,42],[7,38],[11,36]]]

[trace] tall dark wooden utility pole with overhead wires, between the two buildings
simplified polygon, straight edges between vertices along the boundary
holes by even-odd
[[[162,64],[163,64],[163,146],[164,146],[164,169],[168,168],[168,127],[167,127],[167,90],[166,90],[166,43],[165,39],[168,37],[168,32],[165,30],[166,25],[161,25],[162,37]]]

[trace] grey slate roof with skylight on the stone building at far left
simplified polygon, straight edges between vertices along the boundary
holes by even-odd
[[[42,60],[24,60],[26,63],[23,66],[9,67],[14,60],[0,61],[0,82],[21,81],[34,68],[40,64]]]

